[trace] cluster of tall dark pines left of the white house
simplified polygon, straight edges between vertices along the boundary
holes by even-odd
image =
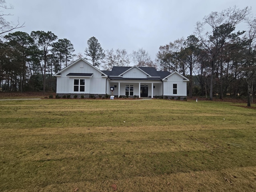
[[[52,32],[14,32],[0,41],[2,91],[54,90],[53,74],[73,58],[73,44]]]

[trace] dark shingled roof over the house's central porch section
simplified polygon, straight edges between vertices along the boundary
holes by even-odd
[[[154,67],[139,67],[141,70],[143,70],[145,73],[149,74],[152,77],[160,77],[160,78],[122,78],[122,76],[120,77],[113,77],[113,76],[119,76],[120,74],[122,74],[123,72],[127,71],[128,69],[130,69],[132,67],[118,67],[115,66],[112,68],[111,71],[102,71],[104,74],[108,75],[108,77],[110,79],[113,80],[162,80],[163,78],[165,78],[166,76],[168,76],[170,74],[170,72],[168,71],[157,71],[156,68]],[[112,77],[110,77],[112,76]]]

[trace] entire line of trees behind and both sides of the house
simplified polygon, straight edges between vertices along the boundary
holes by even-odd
[[[3,15],[0,18],[3,20]],[[0,26],[2,34],[9,29],[13,27]],[[154,61],[143,48],[131,54],[125,49],[103,50],[95,37],[87,41],[85,55],[74,55],[69,40],[57,39],[52,32],[44,31],[32,31],[30,35],[14,32],[4,36],[0,40],[2,91],[52,90],[55,86],[53,74],[75,57],[82,57],[104,70],[135,64],[178,71],[190,80],[190,97],[198,95],[212,100],[214,96],[223,98],[228,94],[246,96],[248,106],[255,97],[256,18],[248,7],[240,10],[234,6],[210,13],[196,23],[192,35],[160,46]]]

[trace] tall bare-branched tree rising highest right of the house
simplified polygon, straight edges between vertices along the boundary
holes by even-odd
[[[196,34],[202,43],[202,46],[210,54],[211,79],[210,79],[210,100],[213,93],[213,78],[216,69],[216,62],[220,58],[222,48],[232,38],[232,32],[235,27],[244,21],[250,14],[251,9],[246,7],[242,10],[236,6],[228,8],[222,12],[212,12],[205,16],[202,22],[196,23]],[[210,27],[209,31],[205,28]]]

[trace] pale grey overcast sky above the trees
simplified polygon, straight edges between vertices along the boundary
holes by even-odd
[[[252,7],[255,0],[6,0],[8,20],[25,22],[20,31],[51,31],[72,42],[75,54],[94,36],[104,50],[144,48],[152,60],[159,46],[193,34],[197,21],[213,11]],[[6,11],[5,11],[6,12]],[[14,31],[13,31],[14,32]]]

